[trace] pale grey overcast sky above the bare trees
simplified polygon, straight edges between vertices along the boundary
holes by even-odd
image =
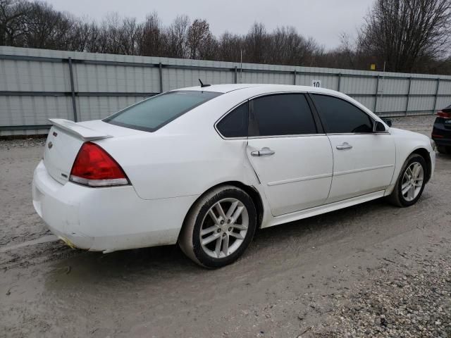
[[[192,20],[204,18],[214,35],[229,30],[244,34],[255,21],[268,30],[295,26],[306,37],[314,37],[326,48],[340,43],[340,32],[354,36],[373,0],[47,0],[59,11],[101,20],[109,12],[144,20],[157,11],[164,25],[176,15]]]

